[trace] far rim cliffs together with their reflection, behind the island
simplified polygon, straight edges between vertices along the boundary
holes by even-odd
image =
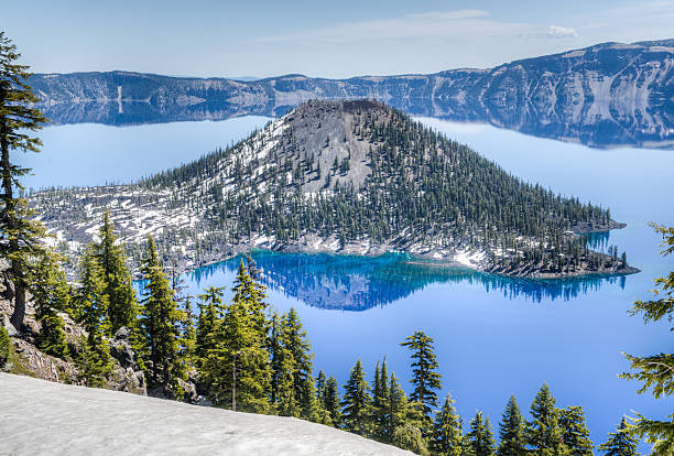
[[[590,146],[674,146],[674,40],[602,43],[489,69],[259,80],[110,72],[35,75],[54,123],[282,116],[309,99],[370,98],[412,116],[485,122]]]

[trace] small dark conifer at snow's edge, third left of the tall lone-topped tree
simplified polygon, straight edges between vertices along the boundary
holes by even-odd
[[[370,432],[370,386],[365,379],[360,359],[349,373],[349,380],[344,386],[341,400],[344,423],[347,431],[367,435]]]

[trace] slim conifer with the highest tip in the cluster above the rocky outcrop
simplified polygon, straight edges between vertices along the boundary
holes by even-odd
[[[135,325],[137,300],[132,286],[131,271],[127,267],[127,258],[113,232],[108,211],[104,215],[104,224],[98,236],[98,258],[104,272],[106,294],[108,295],[108,318],[112,336],[122,326],[132,329]]]

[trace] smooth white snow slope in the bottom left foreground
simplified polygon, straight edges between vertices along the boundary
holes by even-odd
[[[301,420],[0,373],[1,455],[410,454]]]

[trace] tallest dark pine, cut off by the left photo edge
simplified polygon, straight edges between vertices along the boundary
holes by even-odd
[[[32,76],[26,65],[17,61],[21,54],[4,32],[0,32],[0,257],[10,262],[9,273],[14,285],[12,325],[21,329],[25,316],[25,291],[29,287],[28,265],[31,259],[46,254],[40,239],[43,226],[33,220],[34,211],[25,198],[15,195],[22,191],[20,177],[30,172],[10,161],[10,151],[39,152],[42,142],[31,132],[40,130],[46,119],[31,107],[37,101],[26,80]]]

